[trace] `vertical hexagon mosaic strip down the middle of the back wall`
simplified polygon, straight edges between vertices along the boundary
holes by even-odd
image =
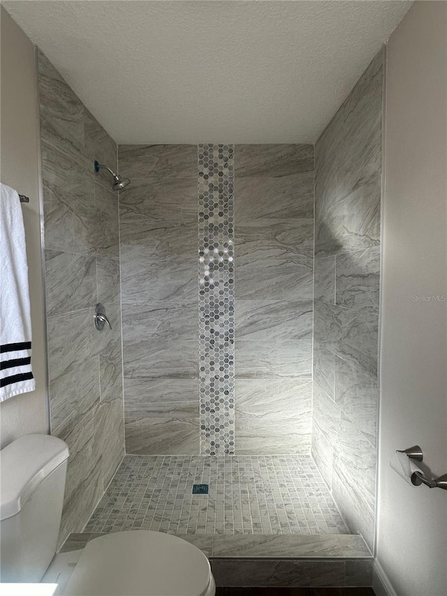
[[[200,453],[235,452],[234,147],[198,145]]]

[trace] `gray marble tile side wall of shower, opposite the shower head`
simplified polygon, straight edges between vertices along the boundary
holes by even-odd
[[[316,143],[312,455],[374,542],[383,52]]]

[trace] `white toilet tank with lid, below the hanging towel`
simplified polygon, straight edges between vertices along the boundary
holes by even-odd
[[[64,503],[68,447],[24,435],[0,451],[0,581],[37,582],[54,553]]]

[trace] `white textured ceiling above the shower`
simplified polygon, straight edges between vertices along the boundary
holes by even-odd
[[[118,143],[312,143],[404,1],[5,1]]]

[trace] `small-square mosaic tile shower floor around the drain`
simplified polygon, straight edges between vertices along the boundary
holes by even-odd
[[[350,533],[310,456],[126,456],[84,532],[121,530]]]

